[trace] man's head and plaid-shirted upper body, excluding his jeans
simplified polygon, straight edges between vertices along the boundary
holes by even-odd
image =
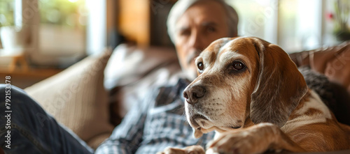
[[[195,79],[196,56],[218,38],[237,36],[238,16],[224,1],[180,0],[169,13],[168,33],[186,78]],[[183,115],[183,89],[189,84],[179,79],[173,86],[151,92],[141,105],[134,105],[96,153],[156,153],[166,147],[208,143],[214,133],[194,139]]]

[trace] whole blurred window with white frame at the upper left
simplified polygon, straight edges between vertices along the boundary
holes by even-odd
[[[0,26],[20,29],[32,65],[66,67],[106,47],[106,1],[1,0]]]

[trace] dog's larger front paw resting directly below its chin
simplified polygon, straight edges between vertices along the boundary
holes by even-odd
[[[269,148],[269,141],[249,131],[222,134],[207,145],[207,154],[211,153],[264,153]]]

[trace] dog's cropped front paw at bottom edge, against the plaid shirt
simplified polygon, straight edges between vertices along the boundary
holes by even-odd
[[[164,151],[157,154],[205,154],[202,146],[188,146],[186,148],[165,148]]]

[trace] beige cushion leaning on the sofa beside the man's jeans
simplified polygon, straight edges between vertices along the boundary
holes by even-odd
[[[110,56],[109,50],[88,56],[59,74],[25,88],[45,111],[92,148],[97,148],[113,131],[103,83]]]

